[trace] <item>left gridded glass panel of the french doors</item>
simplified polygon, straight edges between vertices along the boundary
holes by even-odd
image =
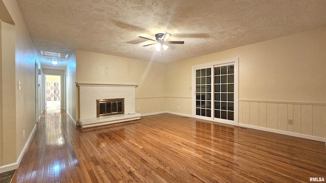
[[[211,68],[196,70],[196,115],[211,117]]]

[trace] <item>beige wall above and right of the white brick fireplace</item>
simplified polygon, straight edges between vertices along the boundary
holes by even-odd
[[[165,64],[76,50],[76,82],[137,84],[138,113],[165,109],[165,100],[157,102],[166,96],[165,74]]]

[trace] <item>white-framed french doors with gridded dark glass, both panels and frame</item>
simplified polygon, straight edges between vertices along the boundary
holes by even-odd
[[[238,59],[193,67],[193,117],[238,123]]]

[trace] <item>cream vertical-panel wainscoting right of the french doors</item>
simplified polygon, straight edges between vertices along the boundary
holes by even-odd
[[[325,111],[324,103],[239,100],[239,126],[325,141]]]

